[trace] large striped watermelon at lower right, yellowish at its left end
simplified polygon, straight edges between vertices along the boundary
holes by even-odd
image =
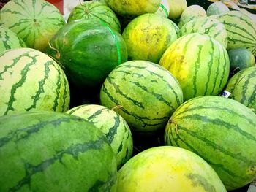
[[[200,96],[173,113],[165,128],[165,145],[200,155],[230,191],[256,177],[255,127],[255,113],[238,101]]]

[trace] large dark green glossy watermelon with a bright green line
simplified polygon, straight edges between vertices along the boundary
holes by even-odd
[[[47,53],[80,88],[102,85],[116,66],[127,61],[127,46],[121,34],[102,20],[93,19],[67,23],[50,39]]]

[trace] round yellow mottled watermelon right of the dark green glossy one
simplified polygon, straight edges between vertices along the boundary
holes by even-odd
[[[122,34],[129,60],[158,63],[162,54],[176,39],[173,22],[157,14],[147,13],[133,19]]]

